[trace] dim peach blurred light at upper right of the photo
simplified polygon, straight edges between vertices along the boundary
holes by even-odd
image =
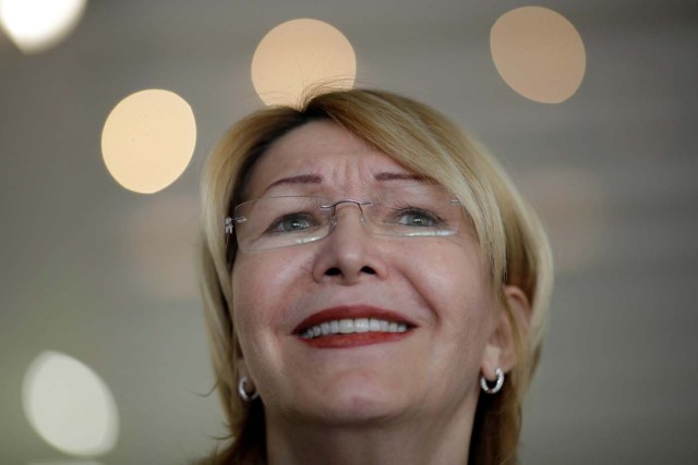
[[[542,103],[559,103],[581,84],[585,45],[563,15],[541,7],[503,14],[490,34],[492,59],[517,93]]]

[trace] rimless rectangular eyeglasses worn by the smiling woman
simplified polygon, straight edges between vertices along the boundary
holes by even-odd
[[[380,192],[372,200],[330,197],[266,197],[238,205],[226,218],[226,242],[236,233],[242,252],[269,250],[326,237],[337,210],[356,206],[373,234],[398,237],[447,236],[458,232],[460,201],[442,186],[416,185]]]

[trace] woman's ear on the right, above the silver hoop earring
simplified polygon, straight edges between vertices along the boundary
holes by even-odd
[[[504,287],[503,302],[500,302],[495,327],[484,350],[481,370],[489,380],[496,379],[495,370],[510,371],[517,363],[515,326],[521,336],[528,333],[531,317],[531,304],[520,287]]]

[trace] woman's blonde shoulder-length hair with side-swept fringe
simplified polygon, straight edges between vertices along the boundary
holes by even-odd
[[[552,289],[545,233],[504,170],[483,147],[432,108],[381,90],[310,95],[299,108],[260,110],[234,124],[203,173],[202,287],[213,365],[232,439],[206,463],[264,463],[264,407],[237,395],[239,346],[232,327],[230,267],[236,253],[224,219],[244,199],[254,163],[279,137],[309,121],[333,121],[418,174],[436,180],[462,203],[489,262],[495,295],[520,287],[531,304],[528,323],[507,307],[517,364],[496,395],[481,395],[470,442],[470,464],[516,463],[521,402],[538,365]]]

